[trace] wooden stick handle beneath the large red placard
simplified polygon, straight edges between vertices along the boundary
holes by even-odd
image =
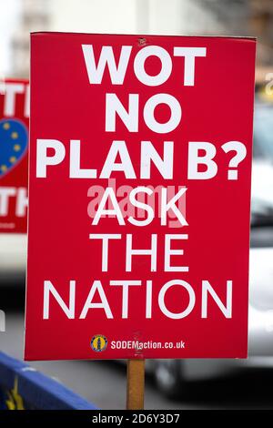
[[[127,410],[144,408],[145,360],[127,361]]]

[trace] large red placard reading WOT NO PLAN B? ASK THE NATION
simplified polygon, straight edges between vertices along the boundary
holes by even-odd
[[[255,47],[32,35],[25,359],[246,357]]]

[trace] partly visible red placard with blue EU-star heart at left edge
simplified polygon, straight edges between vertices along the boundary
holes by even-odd
[[[26,233],[28,121],[28,81],[0,81],[0,233]]]

